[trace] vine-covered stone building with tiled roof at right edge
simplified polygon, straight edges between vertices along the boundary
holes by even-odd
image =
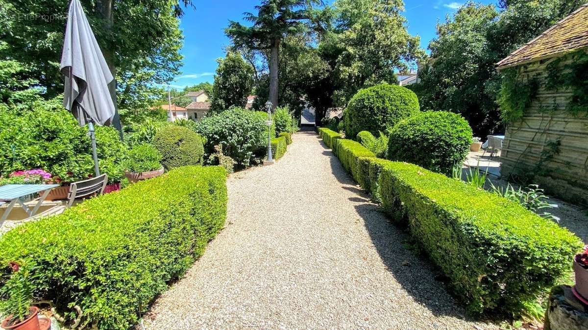
[[[568,107],[573,101],[569,87],[546,84],[549,72],[573,67],[574,58],[554,62],[572,52],[588,52],[588,5],[497,64],[500,71],[516,70],[519,82],[539,82],[522,118],[506,127],[501,173],[533,173],[533,183],[546,193],[588,206],[588,110],[574,115]],[[550,63],[558,66],[549,68]]]

